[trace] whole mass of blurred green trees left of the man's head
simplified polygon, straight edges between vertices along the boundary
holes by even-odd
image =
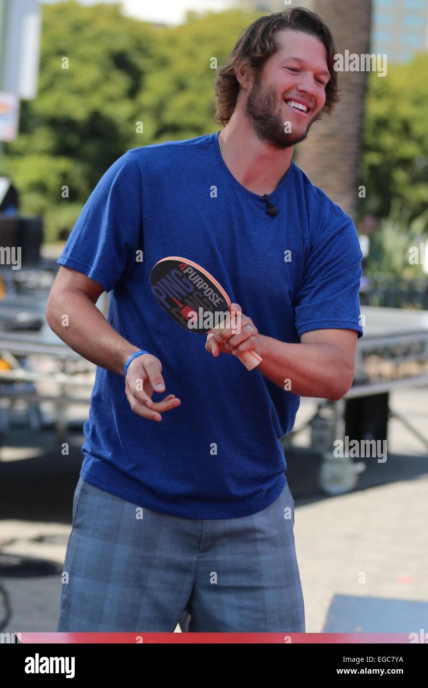
[[[217,130],[215,60],[256,16],[192,12],[184,25],[158,28],[123,17],[119,4],[43,6],[39,93],[21,104],[4,166],[23,212],[44,216],[47,241],[69,233],[127,149]]]

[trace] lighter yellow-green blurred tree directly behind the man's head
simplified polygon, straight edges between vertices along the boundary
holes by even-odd
[[[184,140],[219,129],[213,120],[217,67],[260,14],[188,12],[186,23],[159,30],[153,69],[137,98],[150,142]],[[142,145],[137,138],[135,144]]]

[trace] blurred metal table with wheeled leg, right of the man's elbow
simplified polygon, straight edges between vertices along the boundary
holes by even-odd
[[[317,399],[317,412],[301,427],[281,440],[284,449],[303,429],[314,426],[312,450],[322,463],[319,484],[323,491],[336,495],[350,491],[365,469],[362,461],[349,456],[336,458],[334,440],[345,442],[345,409],[347,401],[374,394],[389,393],[398,387],[428,385],[428,311],[402,308],[363,306],[364,336],[357,341],[355,374],[352,387],[337,402]],[[397,418],[425,447],[428,439],[404,416],[389,410],[388,418]]]

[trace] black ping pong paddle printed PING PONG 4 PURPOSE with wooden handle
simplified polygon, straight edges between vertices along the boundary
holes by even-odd
[[[150,286],[159,305],[184,330],[206,334],[220,323],[229,326],[231,299],[197,263],[178,256],[162,258],[151,270]],[[252,350],[238,354],[237,358],[247,370],[261,363],[259,354]]]

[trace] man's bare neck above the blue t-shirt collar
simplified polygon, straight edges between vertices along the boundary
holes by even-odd
[[[239,184],[257,195],[275,191],[290,167],[292,147],[277,149],[259,140],[248,119],[237,113],[219,137],[224,162]]]

